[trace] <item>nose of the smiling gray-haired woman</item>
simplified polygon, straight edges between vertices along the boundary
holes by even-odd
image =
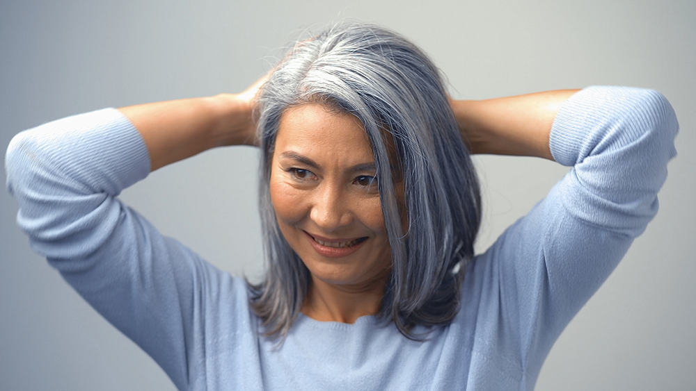
[[[344,192],[334,185],[322,185],[315,190],[310,219],[326,232],[352,222],[352,214],[347,206]]]

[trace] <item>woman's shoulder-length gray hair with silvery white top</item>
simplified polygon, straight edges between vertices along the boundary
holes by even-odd
[[[280,233],[269,177],[281,115],[317,101],[365,127],[392,254],[378,316],[419,340],[413,326],[448,324],[459,310],[464,263],[473,256],[480,223],[479,186],[438,69],[411,42],[370,24],[342,23],[298,42],[262,87],[267,272],[260,284],[249,284],[251,307],[266,335],[284,338],[308,292],[310,273]]]

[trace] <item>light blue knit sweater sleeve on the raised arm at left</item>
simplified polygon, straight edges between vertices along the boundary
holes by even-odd
[[[116,197],[150,172],[136,128],[115,109],[59,119],[16,135],[5,164],[31,247],[187,388],[196,308],[223,274]]]

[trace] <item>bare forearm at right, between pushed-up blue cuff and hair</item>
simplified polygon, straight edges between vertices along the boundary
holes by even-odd
[[[482,101],[450,99],[471,153],[538,156],[553,160],[548,135],[558,109],[578,90],[537,92]]]

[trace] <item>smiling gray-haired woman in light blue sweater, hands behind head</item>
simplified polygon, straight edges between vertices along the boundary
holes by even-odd
[[[261,84],[68,117],[8,148],[32,247],[180,389],[533,388],[655,215],[674,156],[677,121],[657,92],[448,102],[429,60],[376,26],[300,42]],[[477,256],[465,143],[574,166]],[[259,285],[116,198],[235,144],[262,149]]]

